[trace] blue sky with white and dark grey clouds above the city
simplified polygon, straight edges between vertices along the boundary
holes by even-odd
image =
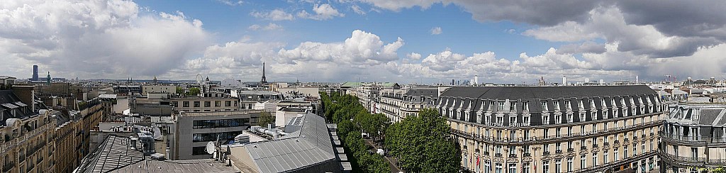
[[[0,75],[535,83],[726,79],[726,1],[0,3]],[[41,76],[44,76],[41,74]]]

